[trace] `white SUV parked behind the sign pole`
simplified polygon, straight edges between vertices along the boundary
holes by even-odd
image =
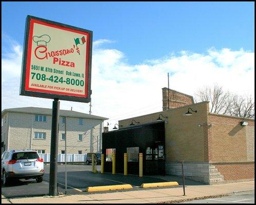
[[[36,179],[42,182],[44,161],[33,150],[6,150],[2,154],[2,181],[7,185],[10,179]]]

